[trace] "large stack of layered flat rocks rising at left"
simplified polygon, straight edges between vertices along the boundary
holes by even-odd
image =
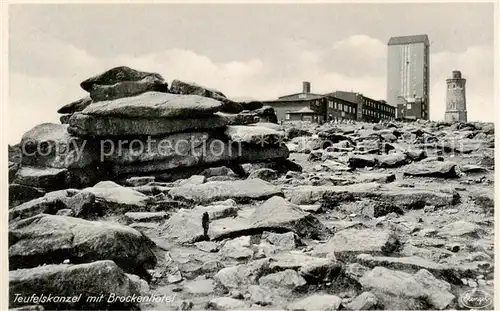
[[[169,89],[159,74],[128,67],[81,87],[89,96],[58,110],[63,124],[41,124],[23,136],[15,184],[57,190],[139,175],[172,180],[210,166],[242,171],[242,163],[288,157],[282,133],[255,124],[276,118],[260,102],[235,102],[179,80]]]

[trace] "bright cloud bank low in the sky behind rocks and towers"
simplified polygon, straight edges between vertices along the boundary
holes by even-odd
[[[324,50],[304,40],[284,41],[277,51],[223,62],[188,49],[98,58],[57,41],[14,40],[10,46],[10,143],[37,124],[58,122],[58,108],[86,95],[81,81],[119,65],[160,73],[169,83],[193,81],[232,98],[277,98],[300,92],[303,80],[312,83],[315,93],[353,90],[375,99],[386,94],[386,46],[366,35],[344,38]],[[459,69],[467,78],[470,120],[493,121],[492,64],[492,48],[487,46],[432,54],[431,118],[443,119],[445,80]]]

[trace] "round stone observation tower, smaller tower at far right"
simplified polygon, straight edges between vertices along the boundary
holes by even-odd
[[[453,71],[453,77],[446,79],[446,122],[463,121],[467,122],[467,106],[465,103],[465,79],[460,71]]]

